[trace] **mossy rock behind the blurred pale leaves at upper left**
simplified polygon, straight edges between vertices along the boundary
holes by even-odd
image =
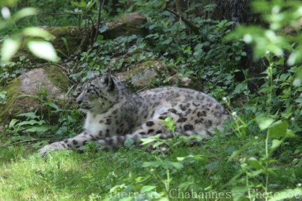
[[[83,31],[79,30],[78,27],[66,26],[66,27],[47,27],[44,28],[49,31],[53,36],[54,40],[50,41],[54,48],[57,51],[58,56],[61,58],[66,57],[78,50],[81,45],[83,36]],[[64,39],[66,39],[66,43]],[[27,48],[26,40],[21,46],[16,56],[13,60],[18,60],[20,56],[25,56],[26,59],[29,59],[31,63],[45,63],[46,61],[34,56]]]

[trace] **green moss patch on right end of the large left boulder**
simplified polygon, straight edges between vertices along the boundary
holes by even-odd
[[[45,68],[45,71],[47,73],[47,78],[54,86],[56,86],[62,92],[67,92],[69,81],[67,77],[62,73],[60,68],[55,65],[50,65],[48,68]]]

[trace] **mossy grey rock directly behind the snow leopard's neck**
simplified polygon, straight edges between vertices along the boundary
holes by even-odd
[[[120,80],[127,82],[131,88],[141,89],[152,83],[157,77],[166,73],[164,61],[147,60],[130,66],[126,72],[116,73]]]

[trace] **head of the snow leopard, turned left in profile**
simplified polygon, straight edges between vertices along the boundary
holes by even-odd
[[[124,84],[110,74],[94,76],[83,85],[77,102],[85,112],[102,113],[118,103],[126,91]]]

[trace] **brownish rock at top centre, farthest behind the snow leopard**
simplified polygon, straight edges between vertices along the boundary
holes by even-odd
[[[107,23],[107,30],[102,34],[107,39],[114,39],[119,36],[130,36],[133,34],[143,36],[145,30],[142,26],[146,22],[146,17],[140,13],[129,13],[114,22]]]

